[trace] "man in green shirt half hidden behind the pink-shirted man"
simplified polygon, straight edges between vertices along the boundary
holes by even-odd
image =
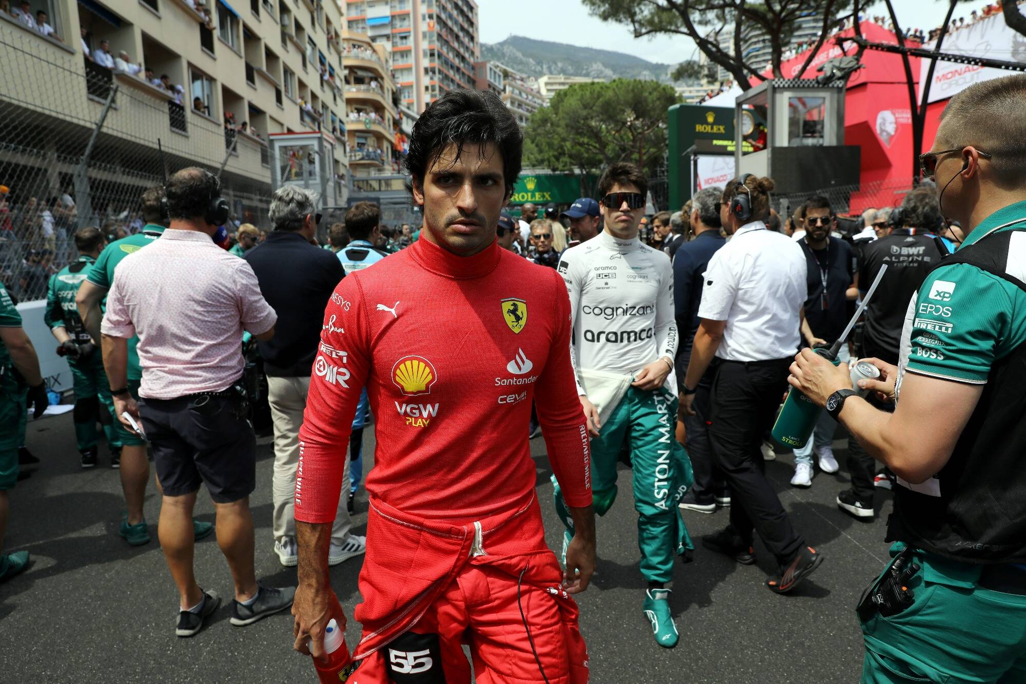
[[[107,291],[114,284],[114,272],[121,260],[139,252],[147,244],[161,236],[167,224],[162,215],[161,200],[164,190],[161,187],[150,188],[143,193],[143,219],[146,225],[143,230],[127,237],[122,237],[107,245],[89,269],[85,280],[79,287],[75,303],[85,330],[89,333],[92,343],[100,346],[100,322],[103,319],[102,305],[107,297]],[[139,338],[128,340],[128,391],[139,398],[139,385],[143,379],[143,370],[139,365],[139,352],[135,345]],[[108,388],[110,391],[110,388]],[[121,489],[125,495],[127,514],[121,521],[119,534],[132,546],[140,546],[150,541],[149,526],[143,516],[143,502],[146,499],[146,483],[150,479],[150,460],[146,453],[146,440],[129,432],[114,416],[114,427],[121,440]],[[160,483],[157,483],[160,487]],[[213,531],[211,523],[193,521],[196,539],[202,539]]]

